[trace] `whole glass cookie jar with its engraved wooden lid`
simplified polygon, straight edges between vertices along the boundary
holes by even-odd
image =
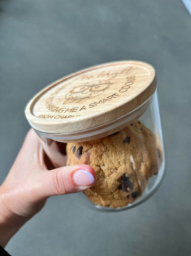
[[[165,158],[154,68],[117,61],[65,76],[26,106],[44,161],[54,167],[88,164],[97,183],[80,203],[126,210],[159,187]]]

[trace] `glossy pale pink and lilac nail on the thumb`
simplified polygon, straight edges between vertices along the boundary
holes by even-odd
[[[93,175],[85,170],[77,170],[74,172],[73,179],[78,186],[88,186],[94,183]]]

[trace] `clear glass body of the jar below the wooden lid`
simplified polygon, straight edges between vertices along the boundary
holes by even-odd
[[[96,133],[99,137],[106,130],[107,136],[86,141],[86,137]],[[162,181],[165,156],[157,92],[138,108],[108,123],[107,128],[104,125],[83,131],[83,141],[80,135],[36,132],[52,168],[75,164],[94,168],[97,183],[81,192],[79,198],[80,203],[94,209],[134,207],[151,197]]]

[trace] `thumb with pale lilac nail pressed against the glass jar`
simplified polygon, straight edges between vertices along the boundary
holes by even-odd
[[[96,183],[94,169],[85,164],[60,167],[42,173],[39,199],[83,191]]]

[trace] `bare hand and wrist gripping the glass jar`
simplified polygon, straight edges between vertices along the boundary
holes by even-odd
[[[10,238],[52,195],[75,193],[92,187],[96,175],[89,165],[73,165],[47,170],[40,159],[40,142],[33,129],[0,186],[0,245]]]

